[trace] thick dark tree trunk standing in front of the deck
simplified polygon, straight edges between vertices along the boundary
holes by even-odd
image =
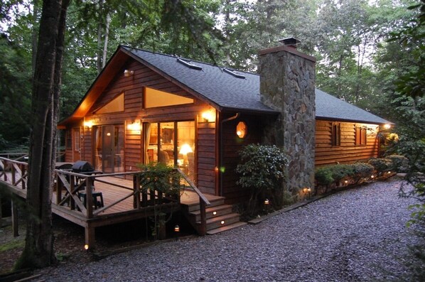
[[[45,267],[55,261],[51,199],[55,166],[60,68],[65,16],[70,0],[44,0],[33,77],[25,249],[16,268]]]

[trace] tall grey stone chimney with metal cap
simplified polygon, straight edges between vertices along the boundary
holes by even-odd
[[[280,112],[265,129],[264,143],[289,154],[286,189],[295,195],[314,188],[316,58],[296,50],[295,38],[281,42],[285,45],[259,51],[261,101]]]

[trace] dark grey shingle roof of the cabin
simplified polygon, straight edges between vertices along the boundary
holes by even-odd
[[[259,75],[235,70],[236,77],[226,72],[225,67],[185,60],[188,63],[202,67],[197,70],[178,62],[178,57],[153,53],[122,46],[136,58],[143,60],[152,67],[173,77],[185,87],[202,95],[224,109],[276,113],[274,109],[260,102]],[[344,102],[337,97],[316,89],[316,119],[333,119],[344,121],[361,121],[374,124],[387,124],[389,121],[375,116],[363,109]]]

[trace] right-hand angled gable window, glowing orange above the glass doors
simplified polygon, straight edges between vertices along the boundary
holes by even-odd
[[[144,92],[144,107],[168,107],[181,104],[193,104],[194,100],[146,87]]]

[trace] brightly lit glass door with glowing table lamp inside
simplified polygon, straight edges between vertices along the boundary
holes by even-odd
[[[145,163],[176,166],[195,179],[195,122],[144,124]]]

